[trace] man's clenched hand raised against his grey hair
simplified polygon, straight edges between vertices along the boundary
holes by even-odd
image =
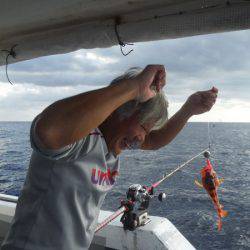
[[[166,83],[166,73],[163,65],[148,65],[133,80],[137,86],[136,100],[146,102],[153,98]]]

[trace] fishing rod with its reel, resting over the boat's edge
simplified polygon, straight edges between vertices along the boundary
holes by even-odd
[[[104,228],[106,225],[108,225],[111,221],[113,221],[115,218],[117,218],[119,215],[122,215],[121,222],[123,224],[123,228],[125,230],[135,230],[139,226],[144,226],[148,222],[150,222],[150,219],[148,217],[148,211],[147,208],[149,206],[149,201],[156,197],[157,195],[154,195],[154,189],[158,187],[163,181],[167,180],[169,177],[174,175],[176,172],[183,169],[185,166],[187,166],[191,161],[195,160],[200,155],[204,155],[205,158],[208,158],[210,156],[209,148],[206,148],[202,150],[199,154],[193,156],[177,168],[175,168],[170,173],[165,173],[163,177],[153,183],[151,186],[141,186],[140,184],[133,184],[128,188],[128,191],[126,193],[127,198],[126,200],[121,201],[120,208],[115,211],[113,214],[108,216],[104,221],[102,221],[95,229],[95,233]],[[163,201],[163,199],[166,198],[165,193],[159,193],[158,200]]]

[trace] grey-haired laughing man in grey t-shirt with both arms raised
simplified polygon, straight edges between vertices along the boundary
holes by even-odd
[[[3,250],[80,250],[93,238],[124,149],[168,144],[216,88],[197,92],[167,121],[165,69],[132,68],[108,87],[57,101],[31,126],[33,153]]]

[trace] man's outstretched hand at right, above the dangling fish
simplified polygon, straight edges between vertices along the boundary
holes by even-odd
[[[183,105],[183,109],[190,115],[199,115],[209,111],[216,102],[218,89],[213,87],[207,91],[192,94]]]

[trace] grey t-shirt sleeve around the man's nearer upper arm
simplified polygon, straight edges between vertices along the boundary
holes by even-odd
[[[56,150],[45,148],[35,133],[36,123],[39,119],[40,115],[33,120],[30,128],[30,143],[34,151],[51,160],[70,159],[79,153],[86,138]]]

